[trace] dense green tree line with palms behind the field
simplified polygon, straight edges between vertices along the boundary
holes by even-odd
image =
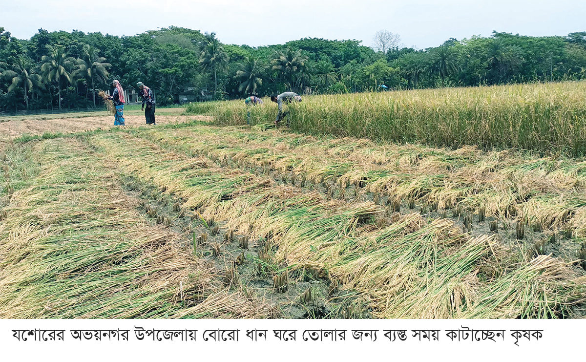
[[[124,88],[142,81],[166,105],[188,90],[199,100],[202,91],[227,99],[285,90],[349,93],[586,78],[586,32],[493,32],[423,50],[399,47],[398,39],[381,31],[376,49],[361,40],[317,38],[251,47],[174,26],[122,37],[39,29],[28,40],[0,27],[0,110],[100,106],[97,90],[114,79]]]

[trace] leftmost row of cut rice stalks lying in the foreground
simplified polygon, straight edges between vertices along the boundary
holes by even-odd
[[[0,317],[264,317],[213,268],[151,226],[115,164],[74,139],[39,142],[38,177],[0,223]]]

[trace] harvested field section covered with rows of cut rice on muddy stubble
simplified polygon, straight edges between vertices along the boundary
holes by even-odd
[[[291,132],[267,106],[6,141],[0,317],[586,315],[583,158]]]

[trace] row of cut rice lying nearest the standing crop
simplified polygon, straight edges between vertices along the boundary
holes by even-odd
[[[414,198],[440,208],[524,220],[586,233],[586,162],[528,158],[515,152],[455,151],[416,145],[376,145],[355,139],[316,139],[238,127],[141,130],[132,134],[186,155],[205,155],[279,179],[336,187],[364,184],[372,198]]]

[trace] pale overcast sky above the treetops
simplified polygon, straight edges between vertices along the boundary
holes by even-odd
[[[302,37],[359,39],[370,46],[384,29],[398,33],[403,45],[424,49],[492,30],[530,36],[585,31],[586,0],[0,0],[0,26],[19,39],[39,28],[121,36],[170,25],[250,46]]]

